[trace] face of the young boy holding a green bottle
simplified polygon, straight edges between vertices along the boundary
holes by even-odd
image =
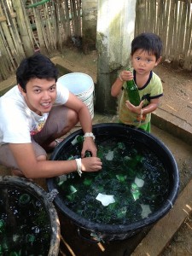
[[[160,63],[161,57],[156,60],[155,55],[149,54],[148,51],[137,49],[131,56],[132,67],[139,74],[149,73],[154,67]]]

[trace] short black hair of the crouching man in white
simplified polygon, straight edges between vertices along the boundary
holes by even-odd
[[[31,79],[58,79],[58,70],[48,57],[40,53],[24,59],[16,71],[17,84],[26,91],[26,84]]]

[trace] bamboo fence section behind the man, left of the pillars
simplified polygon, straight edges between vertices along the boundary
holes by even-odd
[[[1,0],[0,80],[25,57],[41,50],[50,57],[81,36],[81,0]]]

